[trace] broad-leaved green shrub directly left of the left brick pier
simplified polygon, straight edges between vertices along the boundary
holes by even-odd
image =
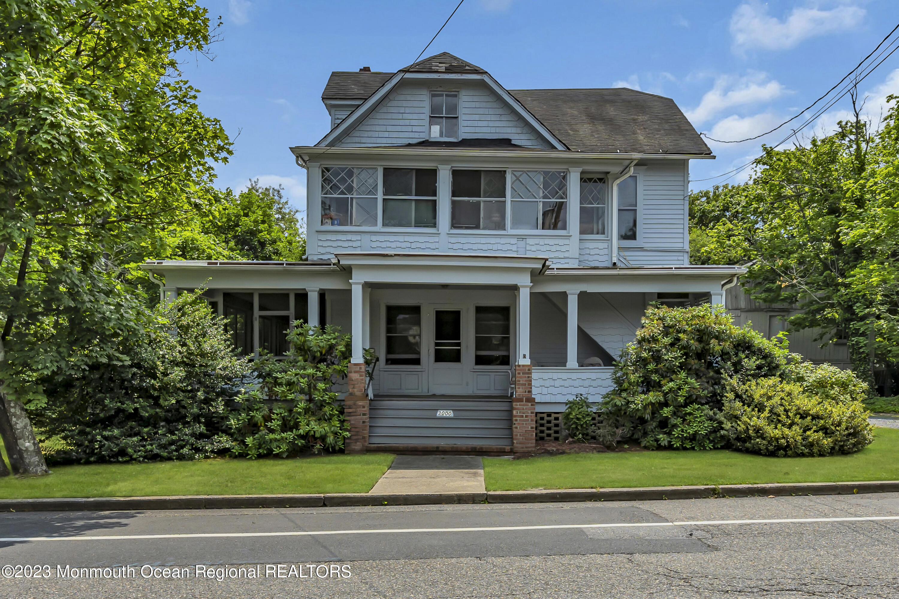
[[[287,357],[256,362],[260,387],[237,398],[228,420],[232,453],[254,459],[343,449],[350,427],[333,385],[346,375],[351,338],[339,328],[297,322]]]

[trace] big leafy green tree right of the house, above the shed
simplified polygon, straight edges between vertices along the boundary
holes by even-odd
[[[751,181],[692,194],[690,242],[694,261],[748,263],[755,299],[797,305],[792,328],[848,339],[873,390],[875,367],[899,362],[899,113],[872,132],[859,110],[830,136],[766,147]]]

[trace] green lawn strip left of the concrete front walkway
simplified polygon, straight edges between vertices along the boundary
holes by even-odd
[[[294,460],[53,466],[49,476],[0,479],[0,498],[368,493],[393,458],[334,454]]]

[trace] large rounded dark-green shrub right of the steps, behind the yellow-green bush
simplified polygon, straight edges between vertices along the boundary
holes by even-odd
[[[784,374],[790,360],[779,343],[734,325],[720,306],[653,306],[615,365],[601,419],[650,449],[720,447],[728,383]]]

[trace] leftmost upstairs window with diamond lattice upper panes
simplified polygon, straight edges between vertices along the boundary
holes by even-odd
[[[322,169],[322,225],[378,226],[378,169]]]

